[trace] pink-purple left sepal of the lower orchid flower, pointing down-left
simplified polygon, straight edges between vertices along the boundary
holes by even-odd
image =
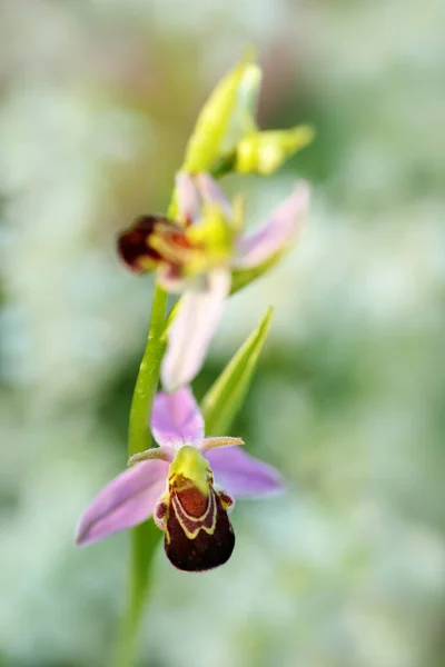
[[[76,542],[90,545],[148,519],[166,488],[168,467],[144,461],[107,484],[81,517]]]

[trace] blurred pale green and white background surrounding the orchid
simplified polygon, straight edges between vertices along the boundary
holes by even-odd
[[[263,127],[315,123],[255,225],[315,186],[298,247],[230,300],[202,395],[275,305],[233,435],[279,467],[214,573],[161,551],[147,667],[443,667],[443,0],[2,0],[0,664],[110,664],[128,536],[76,549],[126,460],[152,279],[115,237],[164,210],[194,119],[248,43]]]

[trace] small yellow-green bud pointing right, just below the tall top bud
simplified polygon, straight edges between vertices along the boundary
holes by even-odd
[[[301,125],[290,130],[254,132],[237,145],[235,169],[239,173],[269,176],[281,165],[308,146],[315,137],[310,126]]]

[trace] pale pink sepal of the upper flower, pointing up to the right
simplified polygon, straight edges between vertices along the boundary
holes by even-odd
[[[284,250],[299,230],[309,206],[309,185],[301,180],[290,197],[275,209],[261,229],[239,239],[238,258],[234,266],[237,269],[250,269]]]

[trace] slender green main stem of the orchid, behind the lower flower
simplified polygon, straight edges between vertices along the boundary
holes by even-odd
[[[167,293],[157,285],[151,307],[147,345],[139,367],[131,400],[128,436],[128,456],[148,449],[151,435],[148,416],[159,381],[160,362],[166,348],[165,317]],[[127,609],[122,619],[116,667],[132,667],[137,657],[137,636],[144,605],[150,586],[151,563],[161,537],[154,521],[146,521],[131,530],[131,560]]]

